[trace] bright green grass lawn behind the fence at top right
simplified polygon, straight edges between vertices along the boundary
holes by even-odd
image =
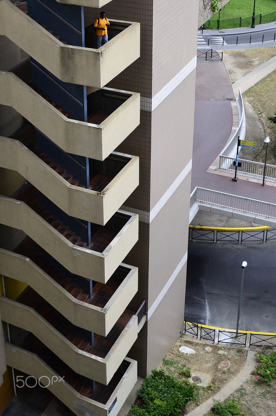
[[[221,19],[228,19],[228,17],[247,17],[251,16],[253,12],[254,0],[230,0],[221,9]],[[255,13],[264,14],[274,12],[276,10],[276,0],[256,0]],[[218,19],[218,12],[211,18]]]

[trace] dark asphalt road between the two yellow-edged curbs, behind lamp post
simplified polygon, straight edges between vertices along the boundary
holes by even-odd
[[[185,318],[236,328],[241,263],[244,273],[240,329],[276,332],[276,242],[203,243],[188,247]]]

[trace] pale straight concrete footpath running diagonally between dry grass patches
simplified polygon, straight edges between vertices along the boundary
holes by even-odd
[[[264,62],[259,67],[253,69],[249,74],[245,75],[233,84],[233,90],[236,96],[238,96],[239,89],[241,93],[247,91],[261,79],[267,77],[271,72],[276,70],[276,56]]]

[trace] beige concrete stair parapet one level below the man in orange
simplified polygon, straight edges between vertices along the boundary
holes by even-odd
[[[15,74],[0,71],[0,104],[13,107],[64,151],[98,160],[104,160],[139,124],[140,95],[129,94],[103,123],[85,123],[68,119]]]

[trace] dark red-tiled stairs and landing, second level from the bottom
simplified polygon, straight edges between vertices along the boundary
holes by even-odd
[[[53,327],[58,329],[60,333],[68,339],[68,341],[74,344],[75,347],[101,358],[105,358],[110,351],[110,348],[115,344],[118,337],[133,316],[133,312],[125,310],[111,331],[108,333],[107,337],[95,334],[95,342],[92,346],[90,345],[90,333],[88,331],[86,332],[88,338],[86,338],[86,335],[81,333],[78,327],[71,324],[65,317],[63,317],[63,315],[58,313],[31,287],[27,287],[17,300],[23,305],[33,307],[33,309],[35,309],[42,317],[44,317],[44,319],[53,325]]]

